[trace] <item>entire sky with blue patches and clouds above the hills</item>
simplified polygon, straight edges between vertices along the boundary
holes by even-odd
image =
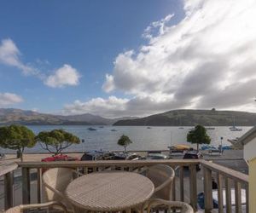
[[[256,112],[254,0],[0,3],[0,107]]]

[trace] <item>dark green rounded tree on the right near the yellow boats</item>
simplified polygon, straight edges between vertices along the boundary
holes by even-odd
[[[201,125],[196,125],[195,130],[190,130],[187,135],[187,141],[197,144],[197,151],[199,150],[199,144],[211,142],[211,138],[207,135],[207,130]]]

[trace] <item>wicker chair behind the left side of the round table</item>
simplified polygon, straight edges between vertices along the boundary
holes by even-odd
[[[79,176],[76,170],[67,168],[55,168],[44,172],[43,190],[46,201],[58,201],[64,204],[68,211],[74,212],[73,205],[66,199],[64,193],[67,185],[73,181],[75,176]]]

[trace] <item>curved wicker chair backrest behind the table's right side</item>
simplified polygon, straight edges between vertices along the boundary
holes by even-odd
[[[157,199],[172,199],[172,183],[175,171],[172,167],[164,164],[157,164],[148,168],[148,178],[153,181],[154,188],[164,186],[162,189],[154,193]]]

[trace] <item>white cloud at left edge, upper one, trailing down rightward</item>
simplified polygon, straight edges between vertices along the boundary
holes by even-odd
[[[36,74],[37,71],[32,66],[24,64],[20,60],[20,50],[11,39],[3,39],[0,45],[0,63],[7,66],[15,66],[25,75]]]

